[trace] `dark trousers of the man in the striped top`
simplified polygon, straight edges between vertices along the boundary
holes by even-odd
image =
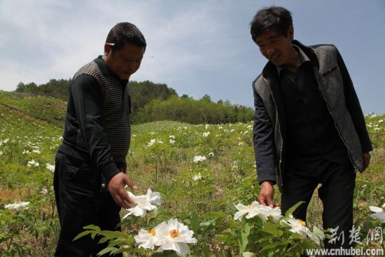
[[[61,230],[55,256],[97,256],[106,248],[106,243],[97,244],[99,239],[92,239],[90,235],[73,241],[86,225],[98,225],[102,230],[120,230],[117,227],[120,207],[109,192],[101,190],[101,184],[101,174],[78,151],[57,153],[54,188]]]

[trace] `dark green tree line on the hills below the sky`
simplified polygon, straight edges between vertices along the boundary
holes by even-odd
[[[45,95],[66,101],[71,78],[51,79],[48,83],[20,82],[15,92],[27,95]],[[193,99],[179,95],[164,83],[130,81],[132,99],[132,123],[156,120],[177,120],[190,124],[221,124],[247,122],[253,119],[253,109],[226,101],[211,101],[209,95]]]

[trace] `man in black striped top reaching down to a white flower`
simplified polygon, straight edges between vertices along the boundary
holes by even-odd
[[[54,188],[61,230],[55,256],[96,256],[106,247],[90,237],[73,238],[85,225],[116,230],[120,207],[133,204],[125,186],[130,147],[128,79],[140,67],[146,40],[122,22],[111,29],[104,56],[85,64],[69,87],[64,140],[55,160]]]

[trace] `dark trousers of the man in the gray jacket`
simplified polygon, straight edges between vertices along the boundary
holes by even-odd
[[[352,165],[323,160],[314,170],[288,169],[281,192],[282,213],[285,214],[297,202],[304,201],[293,216],[306,221],[307,206],[318,183],[322,184],[318,188],[318,195],[323,202],[323,228],[338,228],[336,235],[339,237],[335,243],[325,239],[325,248],[350,248],[353,246],[349,244],[349,230],[353,226],[353,191],[356,185],[356,173]]]

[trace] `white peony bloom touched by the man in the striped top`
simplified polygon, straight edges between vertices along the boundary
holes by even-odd
[[[136,205],[127,209],[128,213],[123,218],[127,218],[127,216],[130,215],[144,217],[146,216],[147,211],[156,211],[158,209],[157,206],[162,202],[160,193],[153,193],[150,188],[148,188],[146,195],[136,196],[131,192],[127,193]]]

